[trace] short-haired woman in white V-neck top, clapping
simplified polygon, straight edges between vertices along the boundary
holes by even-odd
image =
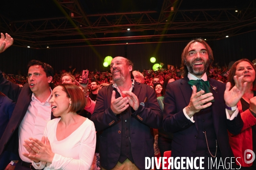
[[[60,84],[52,90],[52,113],[42,140],[29,138],[23,146],[35,169],[90,170],[96,145],[92,121],[77,114],[85,107],[81,89],[74,84]]]

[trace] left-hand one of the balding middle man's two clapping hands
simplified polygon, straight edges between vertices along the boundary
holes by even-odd
[[[113,90],[112,96],[111,96],[110,108],[116,115],[122,113],[123,111],[125,111],[125,109],[127,109],[129,107],[128,102],[129,101],[128,101],[127,97],[116,98],[116,91]]]

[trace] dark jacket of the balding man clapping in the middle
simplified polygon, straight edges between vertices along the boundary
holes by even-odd
[[[113,168],[119,159],[121,153],[121,133],[122,116],[115,115],[111,106],[112,91],[116,91],[116,98],[119,98],[119,92],[110,86],[105,86],[97,95],[96,106],[91,116],[91,121],[95,124],[96,131],[103,130],[100,135],[100,162],[106,169]],[[145,157],[154,156],[154,138],[150,133],[150,127],[160,128],[163,121],[163,113],[157,103],[157,97],[154,90],[146,85],[135,82],[132,91],[139,99],[144,102],[145,107],[140,105],[137,111],[132,108],[130,133],[131,133],[131,153],[135,165],[140,169],[145,169]],[[112,123],[111,123],[112,122]]]

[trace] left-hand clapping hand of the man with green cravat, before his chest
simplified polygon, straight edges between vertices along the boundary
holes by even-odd
[[[186,107],[186,114],[189,116],[189,118],[191,118],[195,113],[199,112],[201,109],[205,109],[212,105],[212,103],[209,102],[213,99],[212,93],[206,93],[204,95],[203,94],[204,90],[196,92],[196,86],[193,86],[190,102],[189,105]]]

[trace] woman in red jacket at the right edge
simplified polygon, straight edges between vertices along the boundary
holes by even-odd
[[[237,169],[255,170],[256,161],[246,162],[245,150],[249,149],[256,153],[256,80],[255,66],[247,59],[236,61],[230,69],[228,81],[231,87],[235,86],[233,77],[236,75],[242,78],[242,82],[247,82],[247,86],[242,98],[238,102],[238,109],[244,126],[241,133],[233,135],[230,133],[230,146],[237,158]]]

